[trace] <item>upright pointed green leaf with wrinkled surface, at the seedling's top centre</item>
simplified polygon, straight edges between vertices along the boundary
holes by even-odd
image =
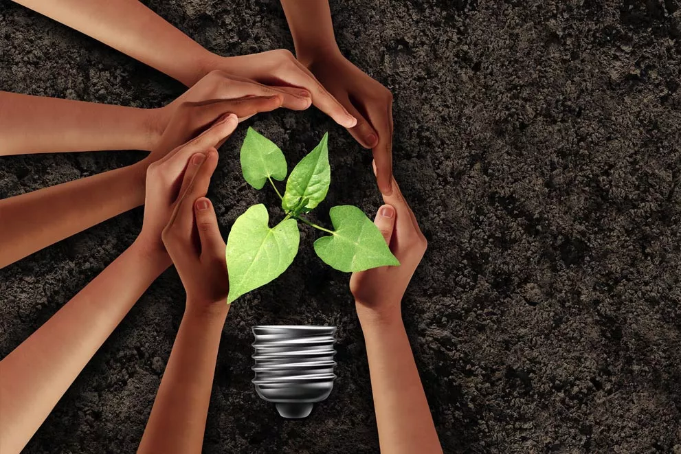
[[[331,166],[328,165],[328,133],[322,141],[291,170],[286,182],[286,192],[281,206],[286,212],[313,209],[326,197],[331,184]],[[306,203],[300,201],[307,199]]]

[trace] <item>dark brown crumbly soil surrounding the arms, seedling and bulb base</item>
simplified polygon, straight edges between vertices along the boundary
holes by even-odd
[[[213,52],[293,49],[277,1],[148,0]],[[333,1],[342,51],[394,93],[394,173],[429,239],[403,302],[447,453],[681,453],[681,3],[678,0]],[[0,89],[162,106],[178,82],[0,0]],[[330,131],[315,210],[381,199],[370,152],[325,115],[249,120],[297,162]],[[253,203],[238,148],[212,181],[225,238]],[[142,152],[0,158],[0,197],[129,165]],[[276,214],[276,210],[272,211]],[[1,219],[0,219],[1,222]],[[0,270],[0,357],[134,240],[142,208]],[[276,282],[230,311],[205,453],[375,453],[364,340],[348,275],[317,232]],[[1,246],[0,246],[1,247]],[[155,282],[25,453],[133,453],[183,313]],[[338,328],[337,381],[311,417],[256,396],[256,324]],[[3,416],[5,417],[5,416]]]

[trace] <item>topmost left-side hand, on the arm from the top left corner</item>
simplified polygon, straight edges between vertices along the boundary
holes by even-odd
[[[317,109],[333,118],[339,125],[352,128],[357,123],[355,117],[324,89],[309,69],[301,65],[287,50],[278,49],[234,57],[210,54],[202,66],[203,73],[222,69],[225,73],[267,84],[270,88],[289,86],[305,89],[311,93],[312,102]]]

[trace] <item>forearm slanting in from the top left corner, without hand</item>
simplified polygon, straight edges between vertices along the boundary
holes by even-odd
[[[14,0],[192,86],[210,54],[137,0]]]

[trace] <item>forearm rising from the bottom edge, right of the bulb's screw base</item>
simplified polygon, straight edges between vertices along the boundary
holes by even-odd
[[[399,310],[358,306],[383,453],[442,453]]]

